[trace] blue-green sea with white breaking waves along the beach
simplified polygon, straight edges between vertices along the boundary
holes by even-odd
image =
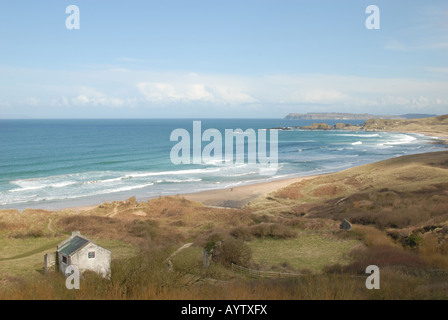
[[[446,150],[422,134],[363,131],[278,131],[278,168],[263,174],[257,164],[220,161],[174,164],[179,141],[216,129],[270,129],[316,120],[119,119],[0,120],[0,209],[61,209],[125,200],[147,200],[257,182],[330,173],[408,154]],[[341,121],[325,121],[332,125]],[[344,121],[360,124],[362,121]],[[270,131],[266,131],[269,136]],[[236,139],[233,143],[237,143]],[[202,142],[202,148],[208,142]],[[223,141],[224,153],[224,141]],[[245,142],[247,147],[247,141]],[[193,148],[193,147],[192,147]],[[267,146],[269,150],[269,144]],[[247,148],[246,148],[247,149]],[[235,146],[236,150],[236,146]],[[247,153],[246,153],[247,154]]]

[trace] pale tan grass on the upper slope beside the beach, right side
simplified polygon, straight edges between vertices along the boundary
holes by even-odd
[[[448,181],[448,151],[388,159],[291,184],[272,194],[276,200],[322,202],[355,192],[393,188],[409,192]]]

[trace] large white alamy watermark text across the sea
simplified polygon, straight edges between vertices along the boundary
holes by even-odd
[[[178,142],[170,152],[171,162],[175,165],[250,164],[258,167],[261,175],[275,175],[278,170],[278,130],[259,129],[257,134],[254,129],[225,129],[223,139],[219,130],[202,132],[201,121],[193,121],[192,135],[188,130],[178,128],[171,132],[170,141]],[[203,142],[207,142],[204,147]]]

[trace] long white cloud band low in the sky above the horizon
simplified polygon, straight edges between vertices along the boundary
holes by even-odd
[[[446,68],[426,70],[447,73]],[[26,79],[26,72],[21,72]],[[31,72],[37,79],[38,72]],[[43,78],[12,94],[0,87],[0,106],[135,108],[142,114],[147,109],[145,114],[159,116],[168,115],[168,111],[171,115],[191,110],[198,114],[207,112],[210,117],[224,113],[237,117],[244,112],[245,117],[277,117],[284,112],[313,110],[376,114],[409,113],[414,109],[422,113],[448,112],[448,80],[444,77],[427,80],[329,74],[243,76],[108,68],[73,71],[70,77],[62,71],[45,71]],[[23,96],[32,98],[26,100]]]

